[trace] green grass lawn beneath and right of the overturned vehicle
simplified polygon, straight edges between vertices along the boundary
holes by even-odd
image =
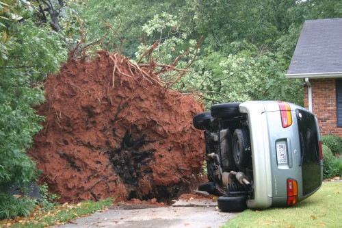
[[[342,181],[324,182],[293,207],[246,210],[222,227],[342,227]]]

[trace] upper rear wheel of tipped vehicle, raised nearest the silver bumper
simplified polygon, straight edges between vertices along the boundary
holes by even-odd
[[[211,116],[215,118],[233,118],[240,116],[239,105],[240,103],[218,103],[216,105],[212,105]]]

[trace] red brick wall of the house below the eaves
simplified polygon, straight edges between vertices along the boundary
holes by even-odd
[[[322,136],[342,136],[337,127],[335,79],[309,79],[313,92],[313,113],[316,114]],[[304,106],[308,109],[308,88],[304,86]]]

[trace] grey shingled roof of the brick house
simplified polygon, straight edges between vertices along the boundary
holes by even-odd
[[[342,77],[342,18],[308,20],[287,77]]]

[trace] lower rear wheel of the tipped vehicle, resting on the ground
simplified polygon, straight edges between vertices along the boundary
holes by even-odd
[[[222,212],[242,212],[247,209],[247,197],[218,197],[218,209]]]

